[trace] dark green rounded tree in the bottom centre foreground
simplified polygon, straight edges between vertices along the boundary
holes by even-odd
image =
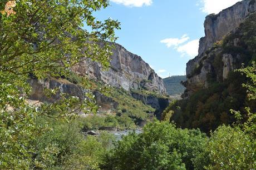
[[[103,169],[193,169],[194,158],[207,142],[199,130],[169,122],[147,124],[141,134],[122,138],[107,154]]]

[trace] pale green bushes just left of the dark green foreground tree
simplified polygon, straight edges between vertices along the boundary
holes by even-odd
[[[49,131],[35,141],[35,168],[99,169],[102,156],[112,147],[115,137],[102,132],[100,136],[81,133],[81,122],[55,122]]]

